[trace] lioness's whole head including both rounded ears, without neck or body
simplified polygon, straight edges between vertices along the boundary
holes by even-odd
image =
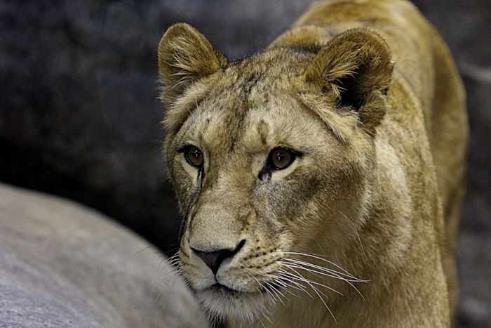
[[[180,270],[210,313],[252,320],[285,293],[323,298],[359,281],[314,254],[342,258],[358,243],[392,67],[365,29],[307,47],[280,41],[238,61],[189,25],[164,34]]]

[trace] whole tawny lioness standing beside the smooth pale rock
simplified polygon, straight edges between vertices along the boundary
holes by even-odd
[[[179,266],[231,327],[443,327],[456,302],[464,92],[408,1],[314,4],[230,61],[159,45]]]

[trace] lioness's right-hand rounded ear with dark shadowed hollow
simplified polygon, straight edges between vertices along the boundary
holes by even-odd
[[[307,80],[321,84],[323,92],[334,93],[339,106],[359,112],[365,128],[375,133],[384,117],[393,68],[391,51],[382,37],[368,29],[350,29],[321,48],[309,66]]]

